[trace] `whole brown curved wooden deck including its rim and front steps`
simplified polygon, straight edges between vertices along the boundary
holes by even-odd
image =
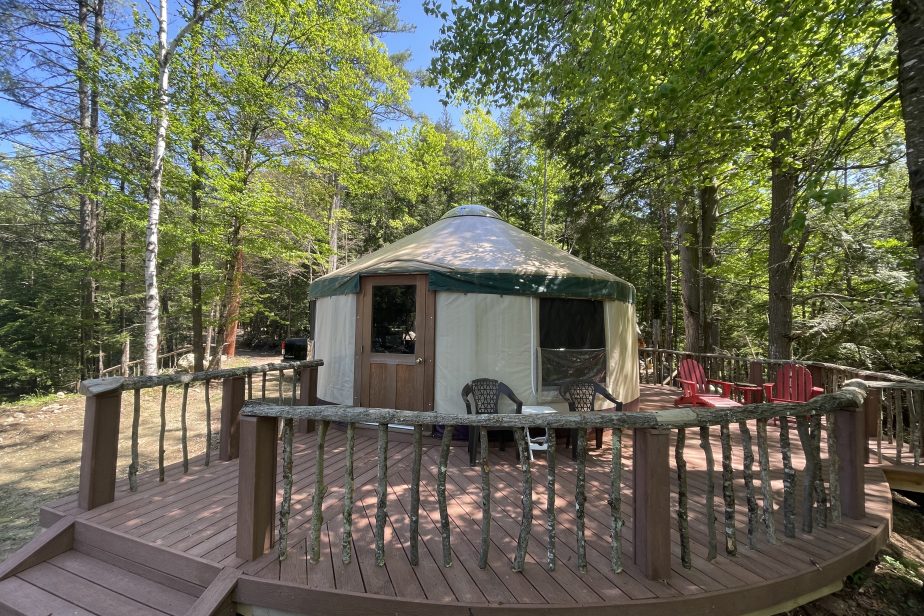
[[[643,385],[642,389],[642,410],[667,408],[676,395],[676,390],[657,386]],[[771,426],[771,460],[776,469],[772,485],[779,507],[783,486],[779,448],[775,444],[776,432]],[[720,451],[718,434],[718,428],[711,432],[712,445],[717,452]],[[740,472],[736,472],[738,553],[728,556],[722,549],[723,504],[719,470],[716,473],[719,487],[715,515],[720,547],[717,558],[707,561],[705,459],[699,439],[688,431],[684,453],[690,489],[692,568],[685,569],[681,565],[676,520],[672,534],[671,576],[666,580],[649,580],[633,563],[633,489],[632,474],[627,472],[624,473],[622,489],[625,571],[619,574],[611,571],[610,512],[606,502],[610,453],[609,448],[604,446],[600,450],[591,450],[588,455],[588,567],[586,572],[579,572],[576,566],[574,500],[569,496],[574,494],[575,467],[568,457],[570,452],[562,446],[558,465],[558,567],[555,571],[546,568],[547,535],[543,515],[546,469],[539,454],[533,465],[535,520],[527,563],[522,573],[516,573],[511,570],[511,563],[521,515],[522,480],[512,448],[500,452],[492,443],[494,490],[492,547],[488,566],[484,570],[478,568],[481,475],[479,469],[468,466],[466,449],[460,446],[453,448],[450,457],[447,492],[452,519],[453,564],[447,568],[441,563],[439,515],[433,487],[436,484],[438,441],[426,439],[421,471],[420,564],[412,567],[407,554],[411,448],[404,444],[406,440],[402,436],[400,433],[393,436],[388,457],[389,519],[384,567],[376,566],[372,547],[375,431],[357,430],[353,561],[344,565],[341,560],[340,515],[345,436],[342,431],[332,428],[325,456],[325,478],[329,488],[324,500],[320,562],[310,563],[306,558],[315,470],[314,436],[299,435],[294,456],[291,548],[288,558],[281,563],[274,553],[254,562],[245,562],[235,556],[237,462],[218,462],[213,457],[211,466],[204,468],[202,459],[197,458],[193,460],[188,475],[184,476],[178,466],[170,468],[163,484],[157,483],[156,471],[141,476],[137,493],[128,492],[127,485],[119,482],[115,502],[88,512],[78,509],[76,497],[49,504],[42,512],[45,526],[70,517],[81,524],[75,549],[0,582],[0,613],[5,613],[4,604],[14,610],[13,613],[185,613],[184,610],[211,587],[211,580],[227,570],[239,575],[234,598],[240,604],[266,600],[271,602],[262,605],[294,612],[309,609],[304,601],[310,599],[312,614],[432,613],[435,604],[441,606],[441,614],[456,613],[453,608],[458,608],[460,614],[480,613],[483,609],[501,612],[517,605],[521,608],[545,608],[537,611],[543,614],[553,611],[576,613],[577,609],[582,614],[663,614],[674,609],[682,610],[684,614],[772,612],[836,590],[846,575],[862,566],[884,545],[890,528],[889,487],[882,470],[871,465],[866,470],[866,518],[844,519],[838,524],[829,524],[827,528],[816,528],[810,535],[800,531],[795,539],[786,539],[782,532],[782,515],[777,511],[779,543],[769,544],[762,528],[759,528],[756,547],[748,548],[744,482]],[[737,436],[737,430],[733,429],[733,437]],[[672,469],[673,444],[672,440]],[[737,440],[734,456],[735,468],[740,469],[742,451]],[[631,468],[630,435],[624,438],[623,460],[625,468]],[[794,466],[801,471],[803,464],[796,438]],[[718,462],[717,466],[721,468]],[[801,494],[801,490],[798,492]],[[676,485],[672,486],[671,494],[672,507],[676,508]],[[128,562],[131,559],[126,559],[124,553],[115,549],[107,552],[100,547],[105,545],[102,537],[106,532],[111,533],[116,544],[147,546],[145,553],[156,556],[145,558],[154,558],[161,563],[161,567],[155,567],[160,574],[153,577],[145,575],[144,568],[138,563],[133,565]],[[97,543],[79,540],[79,533],[85,537],[89,533],[97,538]],[[184,586],[181,577],[169,574],[171,563],[185,563],[183,566],[198,571],[202,580]],[[209,566],[213,569],[209,569],[206,575],[204,571]],[[60,579],[70,580],[71,584],[62,585],[57,581]],[[77,583],[81,580],[98,586],[100,590],[93,596],[106,597],[109,603],[94,603],[87,599],[88,593],[85,589],[81,590],[81,584]],[[160,591],[160,587],[166,590]],[[55,603],[42,604],[36,600],[27,604],[20,601],[17,607],[10,606],[7,599],[14,595],[40,596],[41,593],[50,595],[47,600]],[[68,605],[73,608],[72,612],[64,611],[62,606]],[[15,611],[17,609],[19,612]]]

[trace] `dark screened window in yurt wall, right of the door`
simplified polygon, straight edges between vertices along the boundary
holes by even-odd
[[[606,379],[603,302],[539,300],[539,347],[543,387],[571,379]]]

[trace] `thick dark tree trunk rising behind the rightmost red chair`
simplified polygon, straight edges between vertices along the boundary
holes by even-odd
[[[786,230],[792,221],[797,173],[787,166],[783,150],[791,132],[773,135],[770,162],[770,255],[768,261],[770,305],[767,331],[771,359],[792,359],[793,247]]]

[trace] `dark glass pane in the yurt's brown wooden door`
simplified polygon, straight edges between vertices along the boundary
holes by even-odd
[[[372,287],[373,353],[413,354],[416,321],[416,285]]]

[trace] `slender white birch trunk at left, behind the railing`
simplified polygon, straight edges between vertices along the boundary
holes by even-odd
[[[160,338],[160,297],[157,287],[157,251],[160,226],[161,182],[164,177],[164,155],[167,150],[170,65],[167,54],[167,0],[160,0],[157,20],[157,138],[151,158],[148,186],[148,225],[144,251],[144,374],[157,374],[157,345]]]

